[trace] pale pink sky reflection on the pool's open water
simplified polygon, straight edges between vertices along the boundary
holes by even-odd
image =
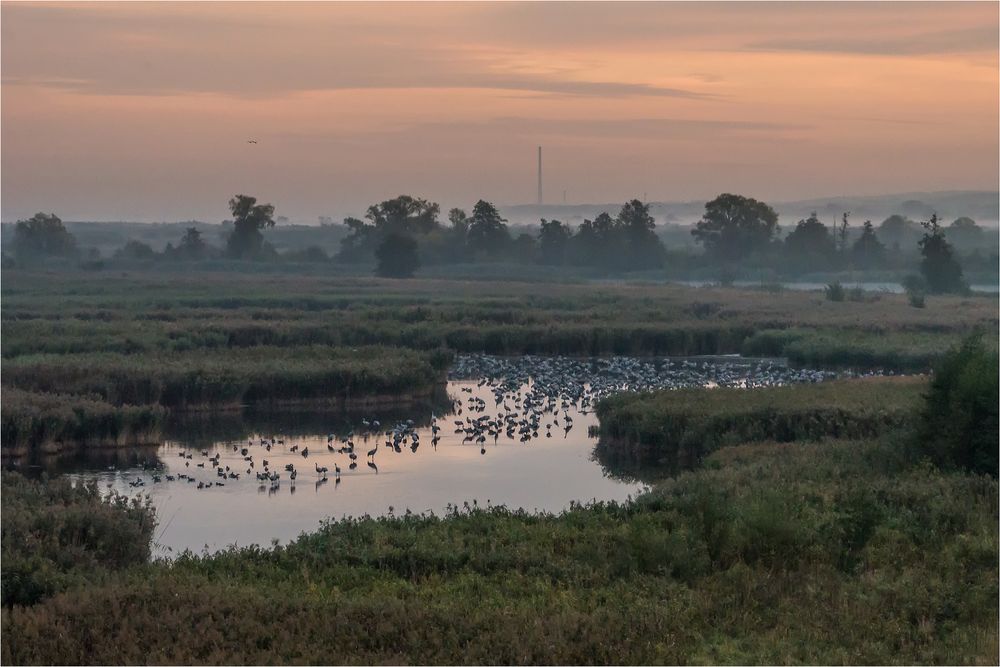
[[[569,414],[574,426],[568,434],[564,434],[561,427],[553,426],[552,437],[545,437],[544,424],[551,421],[551,415],[546,414],[539,429],[540,437],[527,443],[521,443],[516,433],[514,439],[509,439],[501,432],[496,444],[492,438],[488,439],[485,454],[480,453],[476,443],[462,444],[464,434],[455,433],[454,421],[470,415],[473,418],[480,414],[495,415],[496,408],[489,389],[479,388],[475,382],[449,383],[452,397],[465,399],[470,396],[460,392],[461,387],[472,388],[472,396],[486,401],[484,413],[465,410],[461,416],[439,414],[441,440],[437,447],[431,446],[430,428],[423,427],[418,429],[420,446],[415,453],[403,446],[402,452],[397,454],[384,446],[384,436],[357,437],[358,467],[355,470],[348,469],[347,454],[327,450],[325,432],[310,436],[290,436],[280,431],[260,433],[260,436],[274,435],[285,440],[284,446],[274,446],[270,452],[259,444],[250,449],[255,470],[259,470],[261,461],[267,459],[270,469],[281,473],[280,488],[275,492],[267,485],[261,489],[253,475],[249,478],[246,475],[247,463],[239,451],[233,451],[233,444],[242,448],[246,440],[210,446],[200,441],[196,448],[189,446],[191,440],[168,440],[155,452],[165,467],[164,474],[186,473],[197,480],[213,483],[211,488],[202,490],[197,488],[197,483],[182,480],[154,484],[151,471],[143,471],[137,465],[114,471],[77,472],[72,476],[78,480],[96,478],[102,488],[111,484],[116,490],[130,495],[139,491],[148,493],[157,510],[156,540],[174,552],[185,548],[199,551],[205,545],[213,550],[233,543],[268,545],[272,539],[287,542],[303,531],[315,530],[323,519],[385,515],[390,507],[395,514],[402,514],[407,509],[441,514],[449,504],[462,505],[476,500],[480,505],[490,503],[558,512],[572,501],[621,501],[642,489],[639,484],[606,476],[601,466],[591,459],[595,440],[588,437],[587,431],[597,424],[597,419],[593,414],[580,414],[573,408]],[[361,417],[359,415],[355,422],[359,431]],[[408,418],[418,424],[427,423],[429,414],[411,414]],[[382,421],[383,431],[391,426]],[[255,438],[255,442],[258,440]],[[365,459],[365,453],[376,441],[379,443],[375,456],[377,473],[366,465]],[[336,444],[340,446],[339,442]],[[289,451],[293,445],[308,447],[308,458]],[[218,478],[212,464],[201,454],[202,449],[212,454],[218,451],[220,465],[229,465],[239,471],[241,478]],[[180,457],[181,452],[194,456],[184,459]],[[189,466],[185,466],[185,462]],[[205,463],[205,467],[197,467],[198,463]],[[299,470],[294,490],[284,470],[287,463],[293,463]],[[317,484],[319,476],[315,463],[331,471],[334,463],[338,463],[343,470],[341,483],[336,484],[331,474],[327,482]],[[131,488],[128,482],[140,476],[146,480],[146,486]],[[225,486],[214,486],[216,481],[223,481]],[[169,552],[160,549],[157,553]]]

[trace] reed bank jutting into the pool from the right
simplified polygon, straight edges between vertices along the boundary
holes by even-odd
[[[597,455],[648,476],[737,443],[873,438],[911,421],[926,389],[926,378],[911,376],[618,394],[597,405]]]

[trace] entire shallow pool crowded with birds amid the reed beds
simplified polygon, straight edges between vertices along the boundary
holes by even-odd
[[[88,450],[45,467],[102,491],[148,496],[157,513],[154,555],[166,557],[287,543],[328,519],[441,515],[466,503],[558,513],[573,503],[625,501],[646,488],[595,458],[590,432],[600,396],[827,377],[733,358],[460,357],[426,405],[368,414],[195,414],[170,425],[160,445]]]

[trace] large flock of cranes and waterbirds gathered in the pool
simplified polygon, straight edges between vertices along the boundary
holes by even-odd
[[[251,480],[257,482],[259,491],[270,493],[279,490],[283,481],[294,492],[301,472],[318,490],[331,479],[335,485],[340,484],[344,471],[341,463],[347,471],[354,471],[363,461],[377,474],[376,457],[381,452],[402,454],[408,450],[416,454],[424,440],[436,449],[444,428],[454,427],[455,440],[478,446],[485,455],[487,444],[497,445],[501,437],[522,444],[559,433],[565,438],[574,427],[574,415],[590,414],[601,398],[616,392],[694,386],[755,388],[822,382],[843,375],[738,358],[709,361],[465,355],[455,360],[449,375],[453,381],[465,381],[453,396],[452,412],[446,418],[432,414],[423,436],[423,429],[418,429],[412,419],[383,427],[377,419],[364,418],[356,429],[328,434],[325,449],[319,449],[315,439],[310,440],[314,448],[311,451],[308,444],[286,443],[278,436],[256,436],[212,451],[185,449],[178,455],[184,460],[182,472],[168,472],[162,466],[145,472],[151,484],[179,481],[211,489]],[[445,426],[449,420],[452,424]],[[306,462],[310,457],[312,466]],[[331,457],[335,460],[331,461]],[[288,462],[289,458],[293,461]],[[132,488],[144,487],[147,479],[140,475],[128,484]]]

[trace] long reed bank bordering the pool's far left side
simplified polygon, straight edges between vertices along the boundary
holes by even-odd
[[[447,354],[398,348],[255,347],[173,354],[43,354],[4,363],[4,383],[171,408],[429,393]]]

